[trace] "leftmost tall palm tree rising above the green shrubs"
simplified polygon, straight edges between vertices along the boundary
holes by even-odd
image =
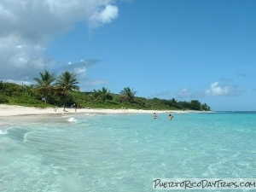
[[[46,70],[39,74],[40,78],[34,78],[38,82],[38,84],[35,84],[35,88],[43,92],[44,102],[46,102],[49,91],[52,90],[52,83],[55,81],[55,74],[50,74]]]

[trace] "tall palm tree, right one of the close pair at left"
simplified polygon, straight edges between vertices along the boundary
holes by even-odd
[[[57,79],[57,90],[61,90],[61,93],[65,96],[64,111],[66,108],[66,101],[69,91],[79,90],[79,82],[76,79],[76,74],[64,72]]]

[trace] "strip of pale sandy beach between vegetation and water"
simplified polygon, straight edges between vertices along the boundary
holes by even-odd
[[[64,113],[75,113],[74,108],[66,108]],[[160,111],[160,110],[137,110],[137,109],[96,109],[96,108],[79,108],[77,113],[195,113],[196,111]],[[0,116],[14,116],[27,114],[62,114],[63,108],[28,108],[22,106],[0,104]],[[198,112],[197,112],[198,113]]]

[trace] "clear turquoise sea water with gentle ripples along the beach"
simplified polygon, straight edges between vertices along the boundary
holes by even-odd
[[[256,113],[0,117],[0,191],[155,191],[153,178],[255,178]]]

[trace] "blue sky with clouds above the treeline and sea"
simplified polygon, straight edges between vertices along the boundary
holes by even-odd
[[[85,91],[256,110],[256,1],[1,0],[0,80],[45,69]]]

